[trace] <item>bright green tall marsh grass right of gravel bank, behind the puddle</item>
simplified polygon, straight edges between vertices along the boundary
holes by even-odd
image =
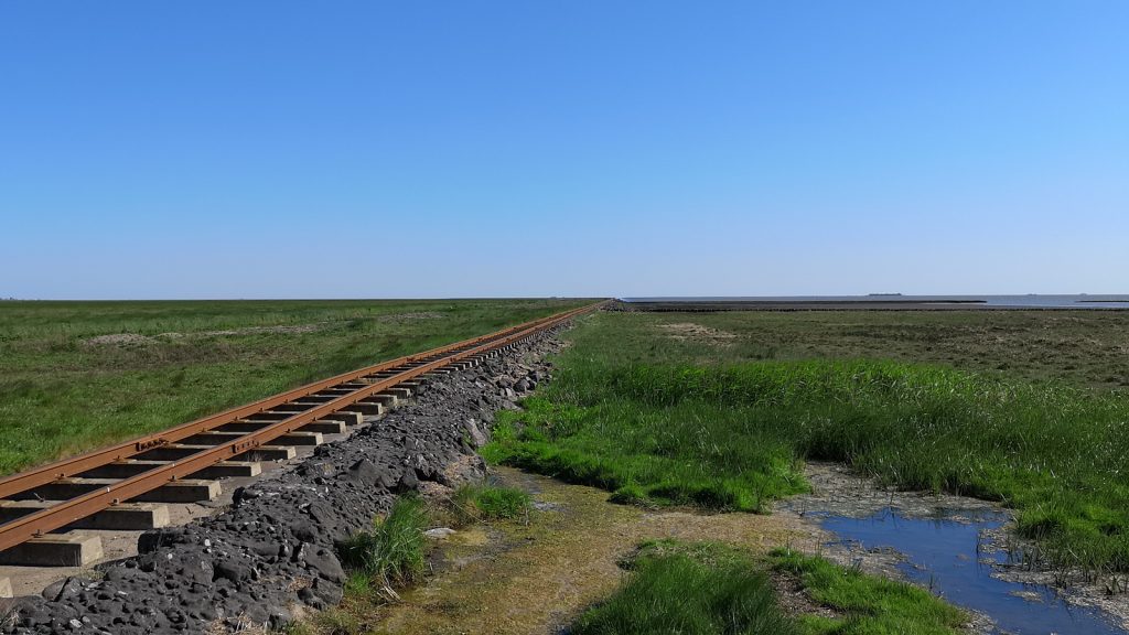
[[[488,460],[621,502],[754,512],[804,489],[799,461],[842,461],[1014,507],[1041,564],[1129,571],[1123,394],[889,360],[686,363],[707,345],[618,320],[570,334],[553,383],[499,419]]]

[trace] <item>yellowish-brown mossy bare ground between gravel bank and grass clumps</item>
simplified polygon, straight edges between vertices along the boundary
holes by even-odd
[[[437,574],[390,607],[375,629],[403,634],[557,633],[612,592],[616,565],[650,538],[719,540],[753,551],[815,550],[819,531],[796,514],[702,514],[607,503],[607,493],[499,468],[504,485],[531,492],[528,523],[471,528],[439,550]]]

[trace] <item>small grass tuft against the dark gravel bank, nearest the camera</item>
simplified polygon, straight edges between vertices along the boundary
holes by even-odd
[[[341,546],[342,562],[352,569],[350,590],[362,593],[377,586],[403,586],[423,575],[427,557],[428,511],[415,496],[397,498],[370,531],[361,531]]]

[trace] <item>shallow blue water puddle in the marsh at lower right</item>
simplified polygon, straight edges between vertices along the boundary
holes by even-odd
[[[847,543],[864,549],[893,548],[905,560],[898,565],[908,577],[954,604],[989,616],[995,633],[1014,635],[1124,635],[1099,609],[1065,602],[1038,584],[991,576],[992,564],[1007,554],[983,548],[983,532],[1007,522],[990,510],[939,510],[935,517],[909,517],[898,507],[884,507],[863,519],[813,513],[820,524]]]

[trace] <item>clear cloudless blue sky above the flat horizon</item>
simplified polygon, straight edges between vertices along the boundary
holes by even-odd
[[[1126,293],[1129,2],[0,3],[0,296]]]

